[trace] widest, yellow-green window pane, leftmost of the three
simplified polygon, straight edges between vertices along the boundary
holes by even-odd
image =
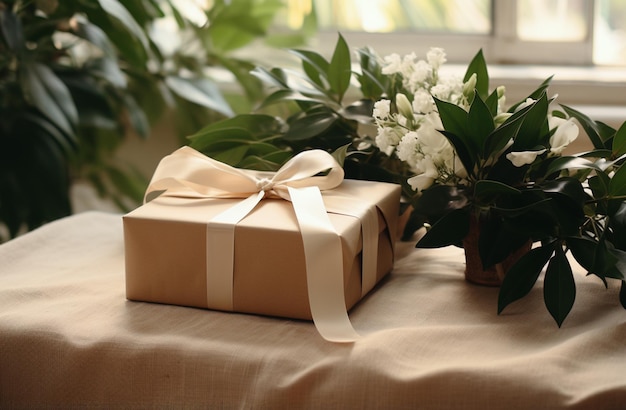
[[[301,21],[311,2],[322,30],[491,32],[490,0],[289,0],[289,21]]]

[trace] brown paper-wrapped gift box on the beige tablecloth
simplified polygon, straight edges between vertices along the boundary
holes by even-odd
[[[185,150],[186,154],[191,152],[188,147]],[[196,153],[191,154],[194,161],[198,160]],[[298,161],[297,158],[294,160]],[[227,167],[224,164],[217,166]],[[179,187],[173,190],[173,194],[158,196],[123,217],[127,298],[268,316],[315,319],[311,310],[310,292],[311,281],[316,279],[307,277],[307,274],[310,276],[307,266],[311,270],[316,269],[320,263],[328,263],[327,255],[323,250],[320,252],[313,248],[306,249],[307,239],[302,232],[302,221],[299,220],[302,216],[297,214],[295,201],[292,203],[280,195],[264,195],[264,198],[256,201],[252,209],[246,211],[242,219],[232,224],[232,246],[226,244],[225,248],[222,246],[223,249],[215,251],[214,246],[223,245],[220,239],[221,225],[216,227],[210,221],[240,206],[243,199],[224,198],[229,195],[220,195],[221,190],[203,192],[200,186],[202,184],[198,184],[197,180],[190,182],[193,178],[163,176],[163,173],[167,175],[180,172],[178,168],[174,169],[176,170],[172,171],[165,167],[160,176],[157,177],[155,173],[153,177],[153,182],[155,178],[168,180],[168,186]],[[189,171],[183,172],[190,174]],[[268,176],[274,175],[254,174],[254,171],[243,170],[236,172],[243,172],[247,176],[253,173],[252,178],[257,181],[257,186],[258,181],[270,181]],[[191,173],[198,177],[202,172]],[[318,172],[311,173],[315,175]],[[215,183],[215,175],[211,175],[208,183]],[[158,188],[158,184],[156,185]],[[292,195],[295,192],[293,189],[290,188],[289,191]],[[259,189],[259,192],[262,190]],[[343,285],[343,289],[339,291],[343,297],[342,308],[346,311],[393,267],[400,187],[388,183],[342,180],[333,189],[319,192],[325,215],[338,238],[336,243],[341,248],[338,250],[339,261],[335,262],[340,266],[334,266],[330,270],[335,270],[334,275],[340,276],[334,283]],[[254,195],[254,192],[244,192],[241,196],[248,198]],[[306,202],[311,201],[307,199]],[[373,223],[370,223],[368,229],[364,229],[366,215],[370,219],[374,215]],[[313,229],[317,224],[313,223]],[[308,235],[311,236],[310,233]],[[322,239],[322,247],[326,240]],[[365,254],[364,244],[368,246],[368,255]],[[211,273],[218,276],[217,279],[211,278],[207,273],[208,266],[214,263],[213,259],[222,260],[217,267],[213,267]],[[229,269],[232,272],[227,272]],[[328,269],[322,272],[323,275],[330,274],[326,270]],[[365,270],[369,271],[369,278],[366,280],[362,276]],[[222,283],[217,283],[216,280]],[[218,293],[222,292],[219,289],[227,289],[223,292],[232,293],[226,298],[227,302],[222,303],[219,300],[221,293],[215,295],[215,301],[208,297],[211,293],[215,294],[212,285],[214,283],[217,283],[215,287],[218,288]],[[318,289],[318,294],[330,290],[324,288],[326,285],[323,282],[316,286],[321,289]],[[321,298],[317,302],[321,306],[319,309],[325,309],[325,296],[318,296],[314,297]],[[328,304],[335,302],[330,301]]]

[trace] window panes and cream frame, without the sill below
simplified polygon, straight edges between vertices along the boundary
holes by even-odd
[[[622,0],[289,0],[288,24],[315,8],[317,47],[340,31],[350,44],[381,54],[444,47],[456,61],[482,48],[514,64],[626,65]],[[381,35],[384,34],[384,35]]]

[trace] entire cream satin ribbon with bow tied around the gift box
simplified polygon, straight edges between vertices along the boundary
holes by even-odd
[[[353,342],[359,336],[346,311],[341,239],[320,192],[337,187],[343,176],[341,166],[322,150],[304,151],[273,173],[234,168],[183,147],[161,160],[144,200],[165,191],[168,196],[245,198],[207,224],[207,306],[226,311],[233,310],[235,225],[265,197],[291,201],[304,244],[313,322],[326,340]],[[327,202],[331,212],[361,220],[364,295],[376,284],[376,208],[363,200]]]

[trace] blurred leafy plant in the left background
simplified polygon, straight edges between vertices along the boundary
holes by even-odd
[[[69,215],[75,181],[121,210],[134,207],[147,177],[116,151],[147,138],[166,114],[182,143],[207,122],[248,111],[264,91],[241,50],[293,46],[315,27],[312,16],[298,32],[270,33],[281,7],[0,1],[0,242]],[[220,88],[224,78],[230,90]]]

